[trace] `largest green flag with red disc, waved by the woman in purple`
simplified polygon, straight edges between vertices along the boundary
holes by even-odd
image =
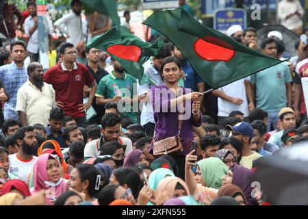
[[[155,12],[143,24],[175,44],[196,73],[214,89],[281,63],[205,27],[182,8]]]

